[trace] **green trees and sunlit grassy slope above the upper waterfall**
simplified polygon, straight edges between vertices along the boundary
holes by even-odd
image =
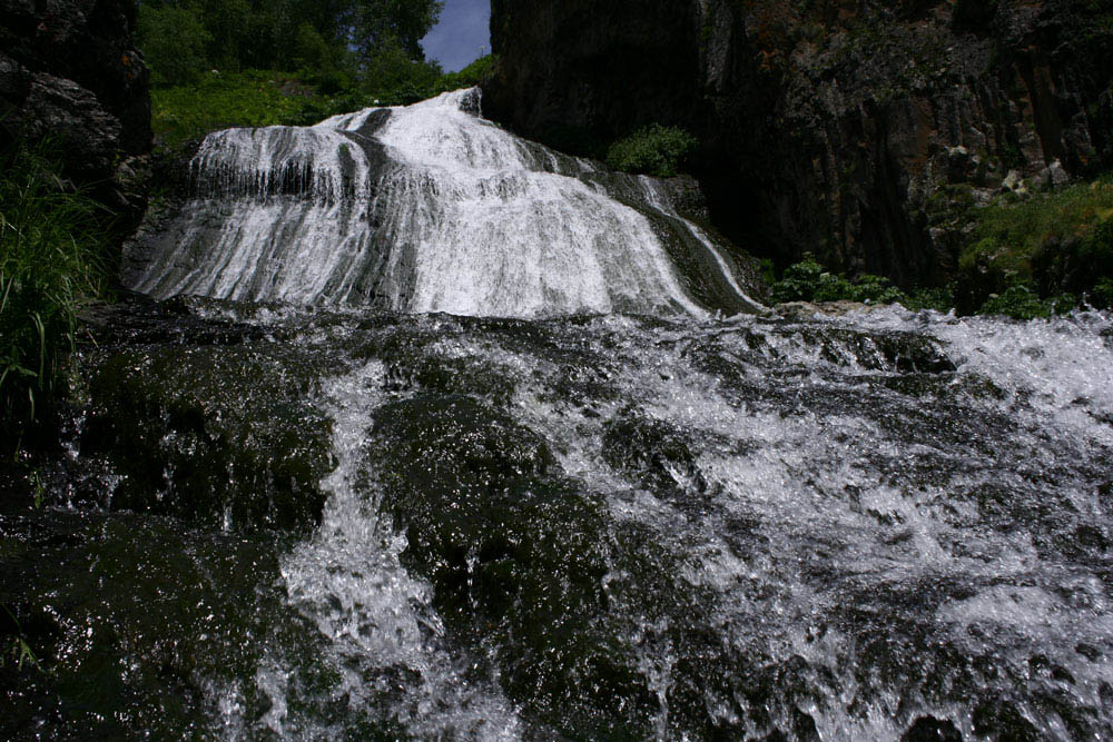
[[[178,147],[233,126],[302,126],[477,85],[484,57],[445,75],[422,56],[437,0],[145,1],[154,129]]]

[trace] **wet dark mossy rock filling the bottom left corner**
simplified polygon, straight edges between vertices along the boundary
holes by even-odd
[[[0,667],[4,739],[217,738],[216,696],[247,722],[272,708],[255,680],[267,661],[298,690],[285,699],[290,731],[299,719],[359,721],[334,698],[325,639],[278,587],[290,542],[132,513],[0,523],[0,604],[40,665]]]

